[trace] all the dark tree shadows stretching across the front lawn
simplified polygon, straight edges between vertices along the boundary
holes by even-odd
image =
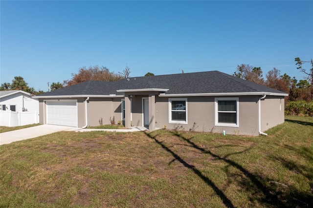
[[[216,185],[210,178],[203,175],[201,170],[197,169],[195,166],[187,163],[185,160],[183,160],[178,153],[174,152],[170,149],[170,147],[166,146],[164,141],[159,141],[156,137],[158,135],[153,136],[151,133],[147,133],[147,136],[152,138],[158,145],[160,145],[163,149],[171,153],[174,157],[174,159],[170,162],[177,160],[179,161],[183,166],[191,169],[201,180],[203,180],[208,186],[212,187],[212,189],[215,191],[217,196],[220,197],[220,199],[223,201],[224,205],[226,207],[234,207],[233,202],[230,198],[227,197],[227,195]],[[227,178],[229,178],[229,181],[227,182],[227,185],[238,183],[241,187],[244,187],[246,189],[246,193],[249,196],[249,200],[253,203],[253,201],[258,201],[261,206],[265,207],[310,207],[313,206],[313,194],[312,192],[303,192],[297,190],[296,187],[289,186],[282,187],[283,184],[277,183],[273,181],[273,179],[264,176],[262,172],[260,173],[251,173],[247,169],[245,169],[242,165],[237,163],[236,161],[233,161],[231,159],[227,159],[230,155],[235,154],[241,154],[244,152],[249,151],[253,148],[253,146],[249,146],[243,151],[240,152],[234,152],[225,155],[224,157],[219,156],[218,154],[213,153],[210,150],[204,149],[201,146],[198,146],[194,142],[191,141],[192,138],[187,139],[184,136],[182,136],[177,131],[171,131],[173,136],[176,136],[182,141],[185,141],[189,146],[200,150],[204,154],[208,154],[215,158],[216,160],[223,161],[227,165],[225,166],[225,174],[227,175]],[[219,147],[219,146],[218,146]],[[292,147],[290,147],[292,148]],[[307,149],[303,150],[305,155],[311,159],[312,157],[311,152]],[[282,164],[285,164],[285,166],[290,166],[290,168],[295,168],[299,171],[303,168],[307,168],[304,166],[299,166],[295,163],[291,163],[290,161],[286,161],[283,158],[277,158],[277,160],[280,160]],[[232,171],[229,169],[229,167],[233,167],[237,170],[239,170],[239,173]],[[306,169],[310,172],[310,169]],[[312,180],[312,174],[309,173],[309,175],[306,175],[306,177],[309,180]]]

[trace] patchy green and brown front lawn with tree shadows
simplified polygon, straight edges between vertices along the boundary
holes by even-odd
[[[64,131],[2,145],[0,207],[313,207],[313,117],[266,133]]]

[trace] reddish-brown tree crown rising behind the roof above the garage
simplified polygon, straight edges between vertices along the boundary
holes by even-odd
[[[63,81],[63,86],[70,86],[90,80],[112,82],[120,79],[122,79],[120,75],[110,72],[110,70],[105,66],[89,66],[88,69],[84,66],[79,68],[77,74],[72,74],[71,80]]]

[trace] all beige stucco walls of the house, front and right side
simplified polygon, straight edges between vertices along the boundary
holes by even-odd
[[[132,94],[132,125],[143,125],[142,99],[148,98],[149,94]],[[175,129],[182,125],[185,130],[193,128],[196,131],[242,135],[258,135],[258,99],[260,96],[239,96],[239,127],[215,126],[215,97],[182,97],[187,98],[187,124],[169,123],[169,97],[156,96],[155,123],[156,128],[166,125],[167,129]],[[102,118],[103,125],[110,124],[110,118],[115,118],[115,123],[122,120],[121,100],[123,98],[89,98],[88,125],[99,125]],[[48,99],[39,99],[40,123],[45,124],[45,103]],[[55,100],[55,99],[51,99]],[[69,100],[69,99],[66,99]],[[75,98],[77,100],[78,127],[86,125],[85,100],[86,98]],[[284,97],[267,96],[261,101],[261,131],[265,131],[275,125],[284,122]],[[125,124],[123,122],[123,124]]]

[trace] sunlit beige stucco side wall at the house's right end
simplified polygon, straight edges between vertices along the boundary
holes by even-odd
[[[283,96],[267,96],[261,100],[261,131],[285,122],[285,99]]]

